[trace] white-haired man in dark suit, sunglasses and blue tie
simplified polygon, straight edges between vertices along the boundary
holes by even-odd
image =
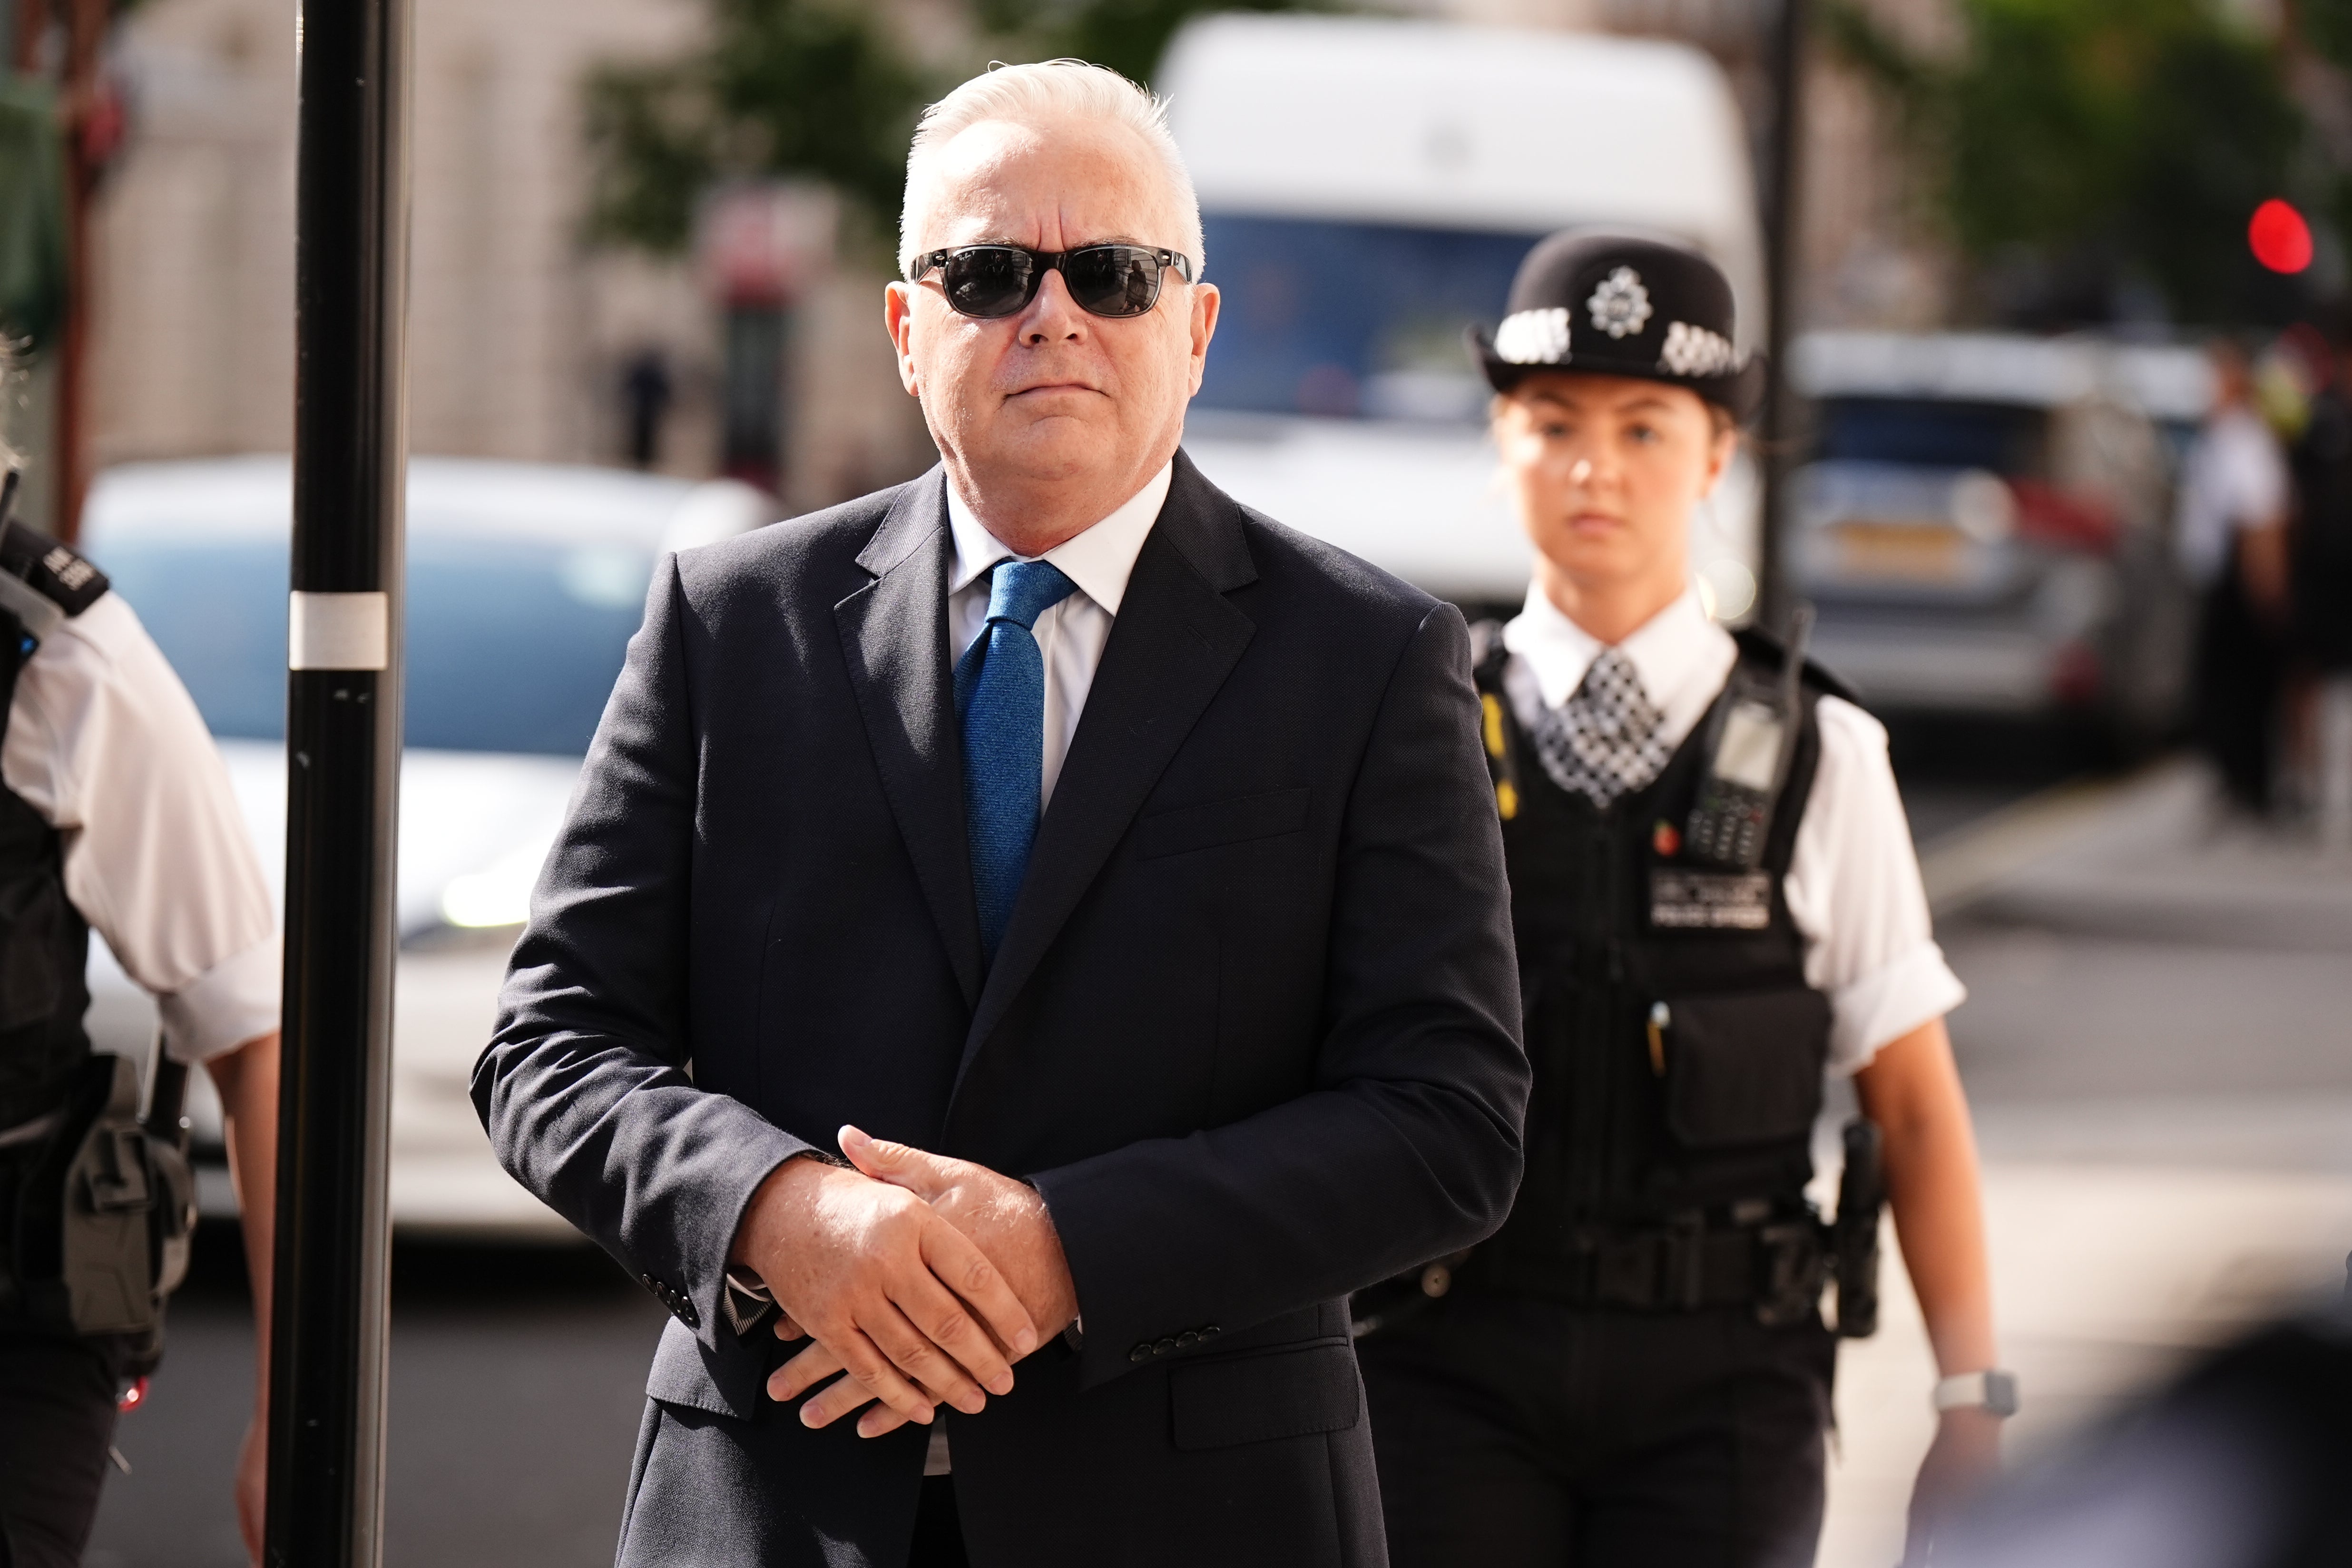
[[[475,1070],[675,1316],[621,1563],[1385,1563],[1345,1298],[1526,1100],[1468,632],[1178,451],[1136,87],[967,82],[903,237],[943,468],[663,567]]]

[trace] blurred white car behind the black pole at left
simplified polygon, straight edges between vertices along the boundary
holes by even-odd
[[[776,517],[760,491],[597,468],[414,458],[407,752],[393,990],[393,1222],[569,1237],[496,1166],[466,1098],[506,954],[562,823],[663,550]],[[285,458],[127,463],[89,491],[82,550],[179,670],[228,759],[270,886],[285,884]],[[143,1058],[155,1009],[103,943],[92,1034]],[[195,1074],[200,1150],[219,1143]],[[226,1171],[202,1178],[226,1206]]]

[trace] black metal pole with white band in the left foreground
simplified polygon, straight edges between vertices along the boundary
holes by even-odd
[[[407,0],[301,0],[270,1568],[383,1561]]]

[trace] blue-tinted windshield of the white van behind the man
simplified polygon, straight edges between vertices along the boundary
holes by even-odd
[[[1207,214],[1223,320],[1197,407],[1475,423],[1463,327],[1494,327],[1543,235]]]

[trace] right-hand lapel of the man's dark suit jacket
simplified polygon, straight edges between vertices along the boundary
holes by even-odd
[[[1178,451],[1167,505],[1136,555],[1054,804],[1037,825],[1021,898],[964,1037],[964,1070],[1240,663],[1256,625],[1225,595],[1251,581],[1240,508]]]

